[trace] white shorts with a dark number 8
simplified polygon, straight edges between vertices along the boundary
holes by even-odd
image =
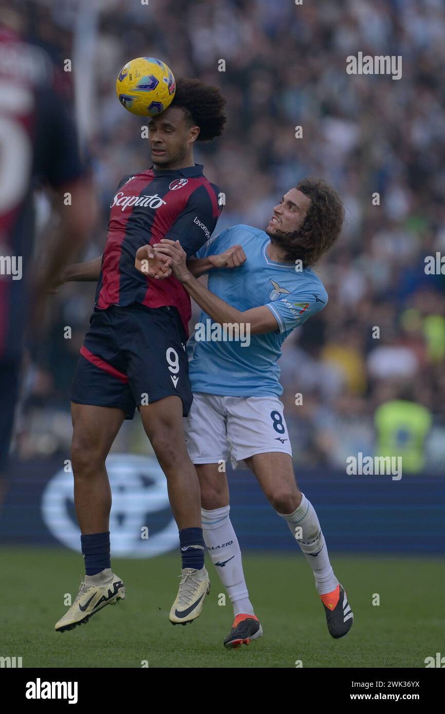
[[[292,456],[278,397],[194,393],[184,431],[193,463],[226,462],[230,456],[236,468],[239,461],[256,453],[281,451]]]

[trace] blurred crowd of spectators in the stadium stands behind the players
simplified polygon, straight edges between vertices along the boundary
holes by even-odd
[[[73,57],[76,3],[29,7],[31,37],[62,67]],[[426,256],[445,253],[444,26],[441,0],[102,4],[85,78],[94,82],[88,151],[102,218],[85,259],[101,254],[121,176],[149,166],[141,121],[114,88],[137,56],[159,56],[176,77],[224,90],[226,133],[196,152],[226,195],[218,231],[265,226],[304,176],[326,178],[344,199],[343,236],[318,268],[329,306],[289,338],[281,358],[297,468],[343,470],[346,456],[391,448],[406,455],[404,471],[434,473],[445,460],[445,278],[424,271]],[[401,55],[402,79],[346,74],[346,57],[358,51]],[[46,211],[42,203],[41,226]],[[93,300],[86,283],[49,297],[46,333],[26,366],[21,458],[67,453],[69,386]],[[116,441],[141,453],[148,446],[137,418]]]

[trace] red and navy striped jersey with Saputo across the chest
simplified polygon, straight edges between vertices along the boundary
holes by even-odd
[[[136,251],[161,238],[179,241],[188,256],[210,238],[221,213],[219,188],[200,164],[161,171],[153,167],[124,176],[111,202],[109,232],[96,291],[96,308],[174,306],[188,333],[189,294],[174,276],[153,280],[134,267]]]

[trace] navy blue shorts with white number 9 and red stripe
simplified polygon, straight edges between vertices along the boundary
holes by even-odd
[[[74,373],[71,401],[118,407],[132,419],[136,406],[176,395],[187,416],[193,394],[186,340],[174,307],[131,303],[95,308]]]

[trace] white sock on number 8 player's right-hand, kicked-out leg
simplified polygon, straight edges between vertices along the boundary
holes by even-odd
[[[299,544],[312,570],[314,570],[317,593],[326,595],[331,590],[335,590],[339,581],[336,579],[332,565],[329,562],[328,549],[324,535],[321,533],[319,519],[316,517],[314,506],[307,500],[304,493],[301,493],[301,497],[301,503],[294,513],[289,513],[289,515],[279,513],[278,515],[287,521],[289,530]],[[301,528],[301,533],[296,532],[296,528]],[[299,537],[296,538],[296,535],[299,535]]]

